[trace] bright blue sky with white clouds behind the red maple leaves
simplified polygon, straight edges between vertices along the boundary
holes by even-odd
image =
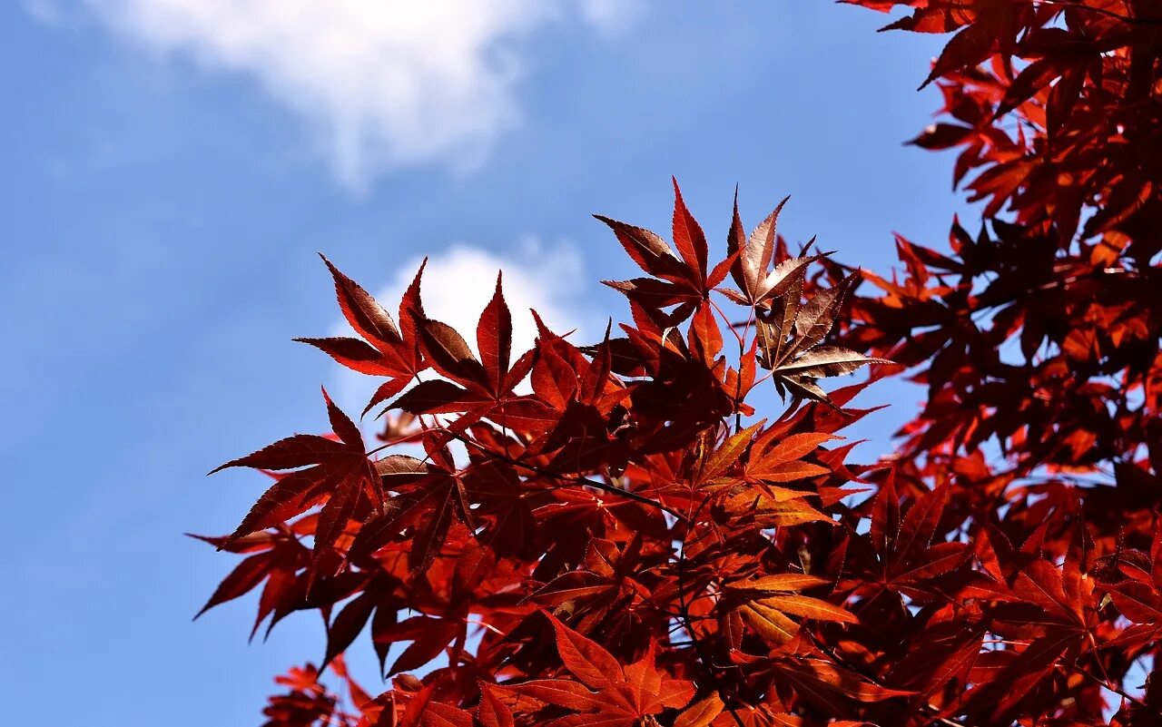
[[[13,724],[253,725],[271,677],[321,656],[311,614],[248,646],[252,599],[191,624],[232,560],[181,537],[229,531],[265,487],[208,469],[324,429],[321,383],[356,398],[290,343],[338,325],[316,251],[375,290],[431,254],[451,278],[425,295],[471,315],[502,265],[515,307],[591,330],[622,311],[596,280],[631,264],[589,215],[666,232],[670,174],[712,239],[739,183],[748,224],[791,194],[792,240],[878,271],[892,231],[939,245],[963,210],[951,158],[901,145],[939,103],[914,89],[940,38],[866,10],[225,6],[0,5]],[[858,452],[917,398],[869,393],[894,406]]]

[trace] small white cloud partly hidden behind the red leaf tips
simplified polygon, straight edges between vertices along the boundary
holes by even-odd
[[[395,278],[375,293],[375,300],[393,317],[421,260],[415,258],[402,264]],[[576,333],[569,337],[574,343],[591,343],[595,336],[601,334],[597,329],[603,323],[598,321],[598,311],[583,297],[586,286],[581,255],[565,243],[548,246],[526,239],[504,254],[471,245],[452,245],[428,259],[422,287],[424,312],[454,327],[475,350],[476,322],[493,296],[497,271],[503,272],[504,300],[512,312],[514,360],[531,348],[537,337],[530,308],[555,333],[564,334],[575,329]],[[352,334],[345,321],[337,322],[333,327],[332,334]],[[381,382],[381,379],[336,367],[328,390],[345,410],[358,412]]]

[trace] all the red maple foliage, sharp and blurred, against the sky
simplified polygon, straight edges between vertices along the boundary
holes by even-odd
[[[904,273],[845,310],[858,276],[790,257],[777,209],[749,236],[736,209],[711,265],[676,194],[673,246],[600,218],[644,273],[607,283],[632,324],[538,318],[523,353],[500,279],[473,351],[419,275],[396,324],[328,262],[361,338],[304,340],[386,377],[382,446],[324,393],[333,436],[225,465],[285,474],[207,539],[246,555],[207,609],[263,584],[256,629],[328,624],[351,706],[308,667],[267,725],[1162,722],[1134,671],[1162,628],[1162,7],[851,1],[956,31],[916,143],[962,147],[981,233],[898,238]],[[888,359],[928,402],[847,463]],[[759,418],[760,386],[786,409]],[[340,656],[368,626],[374,698]]]

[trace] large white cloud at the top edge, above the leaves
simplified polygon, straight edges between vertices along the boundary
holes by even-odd
[[[400,166],[481,164],[521,120],[521,41],[571,17],[616,29],[643,0],[87,1],[157,53],[256,78],[320,130],[359,190]]]

